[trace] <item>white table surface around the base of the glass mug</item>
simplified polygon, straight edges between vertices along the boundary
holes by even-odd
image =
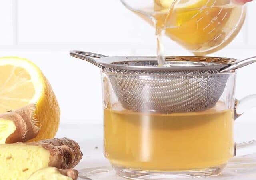
[[[253,140],[256,138],[255,135],[256,123],[248,123],[238,121],[235,125],[235,140],[236,142],[243,142],[248,140]],[[102,124],[60,124],[60,128],[56,135],[57,138],[68,137],[74,139],[80,145],[80,148],[84,154],[82,161],[76,169],[80,172],[85,172],[92,180],[122,180],[115,175],[114,170],[110,167],[110,164],[103,155],[103,125]],[[255,155],[256,156],[256,155]],[[239,169],[234,169],[233,166],[237,161],[245,160],[241,162],[243,165],[239,164]],[[240,163],[240,162],[239,162]],[[237,166],[237,165],[236,165]],[[242,169],[240,166],[245,166],[246,169]],[[246,177],[243,180],[255,180],[256,174],[251,174],[250,170],[256,172],[256,158],[250,157],[238,158],[232,160],[230,164],[232,171],[237,172],[235,176],[237,180],[240,180],[241,177]],[[85,169],[85,170],[84,170]],[[83,171],[84,170],[84,171]],[[106,172],[105,172],[106,171]],[[234,175],[234,172],[224,172],[223,176],[214,177],[218,180],[226,180],[230,178],[230,174]],[[201,178],[198,178],[198,180]],[[183,180],[183,179],[182,179]],[[210,180],[208,178],[207,180]],[[236,180],[235,177],[232,177],[232,180]]]

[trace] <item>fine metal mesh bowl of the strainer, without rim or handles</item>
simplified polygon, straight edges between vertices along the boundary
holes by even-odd
[[[138,63],[156,65],[154,62]],[[217,69],[150,72],[105,68],[104,73],[124,108],[163,113],[196,112],[213,107],[229,76]]]

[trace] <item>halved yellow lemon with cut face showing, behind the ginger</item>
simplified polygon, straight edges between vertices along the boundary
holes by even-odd
[[[36,104],[40,132],[33,140],[53,138],[58,130],[60,108],[41,70],[29,60],[0,58],[0,113]]]

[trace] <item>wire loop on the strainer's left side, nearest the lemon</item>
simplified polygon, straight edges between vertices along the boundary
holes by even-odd
[[[108,56],[104,56],[102,54],[96,54],[96,53],[92,53],[92,52],[85,52],[85,51],[70,51],[70,56],[73,56],[75,58],[79,58],[82,60],[86,60],[92,64],[94,64],[95,66],[104,69],[104,66],[102,66],[101,64],[98,64],[93,58],[104,58],[104,57],[108,57]]]

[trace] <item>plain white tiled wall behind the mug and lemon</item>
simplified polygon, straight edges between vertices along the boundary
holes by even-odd
[[[238,37],[211,56],[256,56],[256,2]],[[1,0],[0,56],[36,63],[52,84],[62,124],[102,124],[100,69],[69,56],[84,50],[108,56],[155,55],[154,28],[119,0]],[[191,55],[166,40],[166,54]],[[238,71],[236,96],[256,94],[256,64]],[[254,122],[255,109],[241,120]]]

